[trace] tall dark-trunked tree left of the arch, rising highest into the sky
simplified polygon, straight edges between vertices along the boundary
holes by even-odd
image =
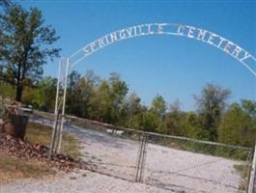
[[[0,16],[0,77],[15,86],[15,99],[21,100],[25,86],[36,84],[43,75],[43,64],[58,56],[52,48],[59,39],[42,12],[14,5]]]

